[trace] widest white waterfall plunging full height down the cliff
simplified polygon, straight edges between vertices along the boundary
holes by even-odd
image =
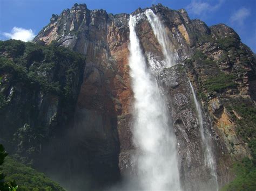
[[[141,190],[180,190],[176,141],[156,79],[146,60],[130,16],[130,76],[134,93],[133,141]]]

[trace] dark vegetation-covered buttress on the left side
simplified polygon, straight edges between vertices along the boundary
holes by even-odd
[[[84,66],[85,57],[68,48],[0,41],[0,138],[14,140],[10,152],[22,162],[73,116]],[[57,108],[50,119],[48,107]]]

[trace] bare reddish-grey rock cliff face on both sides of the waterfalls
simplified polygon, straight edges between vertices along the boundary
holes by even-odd
[[[226,25],[208,27],[200,20],[191,20],[183,9],[170,10],[161,5],[151,9],[165,26],[171,41],[169,48],[177,62],[184,65],[155,71],[170,104],[181,180],[186,189],[197,190],[201,182],[211,179],[207,177],[209,169],[203,165],[203,145],[190,79],[203,104],[205,129],[217,161],[219,184],[224,185],[232,179],[228,171],[232,160],[248,155],[246,144],[236,131],[237,119],[232,115],[239,118],[239,114],[232,103],[253,105],[256,99],[252,52]],[[133,13],[140,18],[137,35],[145,57],[162,61],[161,46],[144,11],[138,9]],[[76,146],[80,152],[87,151],[82,154],[85,158],[89,156],[87,164],[94,164],[98,171],[111,172],[116,178],[118,167],[126,174],[133,173],[134,165],[130,158],[133,93],[128,67],[128,22],[129,15],[107,14],[104,10],[88,10],[85,4],[75,4],[59,16],[53,15],[49,25],[34,39],[45,44],[55,41],[58,46],[86,56],[73,129]],[[215,83],[221,87],[215,87]],[[83,159],[80,160],[83,165]]]

